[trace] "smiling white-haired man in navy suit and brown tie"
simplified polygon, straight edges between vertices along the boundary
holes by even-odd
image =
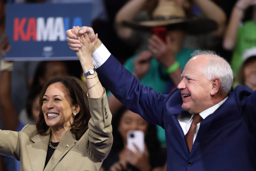
[[[91,41],[95,36],[88,27],[79,33],[88,33]],[[82,43],[72,30],[66,34],[78,51]],[[100,40],[94,50],[92,60],[105,86],[131,111],[165,129],[167,170],[255,170],[256,94],[245,86],[230,92],[233,74],[225,59],[211,52],[192,54],[178,87],[163,95],[143,86]],[[199,123],[193,123],[195,116]]]

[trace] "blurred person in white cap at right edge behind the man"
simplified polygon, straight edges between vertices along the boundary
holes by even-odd
[[[239,83],[256,90],[256,47],[244,51],[243,64],[238,74]]]

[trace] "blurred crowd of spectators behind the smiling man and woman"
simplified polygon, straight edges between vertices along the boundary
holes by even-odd
[[[180,82],[190,54],[202,49],[215,51],[231,64],[233,89],[243,84],[256,90],[254,0],[1,0],[1,129],[19,131],[26,124],[36,124],[40,91],[49,79],[73,75],[87,85],[82,68],[77,67],[79,61],[5,61],[5,53],[15,51],[5,35],[6,4],[82,2],[92,3],[92,27],[101,41],[144,86],[170,93]],[[163,18],[164,24],[159,23]],[[183,24],[177,24],[181,18]],[[157,33],[152,28],[164,30]],[[110,92],[108,100],[113,114],[114,142],[101,171],[165,170],[163,128],[126,109]],[[129,130],[144,132],[143,153],[127,150]],[[2,170],[19,170],[19,163],[0,156]]]

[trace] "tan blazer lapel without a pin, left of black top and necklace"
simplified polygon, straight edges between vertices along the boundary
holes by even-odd
[[[50,130],[47,132],[49,133],[49,131]],[[27,145],[26,147],[32,170],[40,171],[44,169],[49,138],[50,134],[47,136],[37,134],[30,138],[34,143]]]

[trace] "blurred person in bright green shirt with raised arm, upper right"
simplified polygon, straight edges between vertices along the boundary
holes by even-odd
[[[238,85],[239,68],[243,60],[244,50],[256,46],[256,2],[238,0],[234,5],[229,19],[223,47],[233,51],[231,66],[234,73],[234,85]]]

